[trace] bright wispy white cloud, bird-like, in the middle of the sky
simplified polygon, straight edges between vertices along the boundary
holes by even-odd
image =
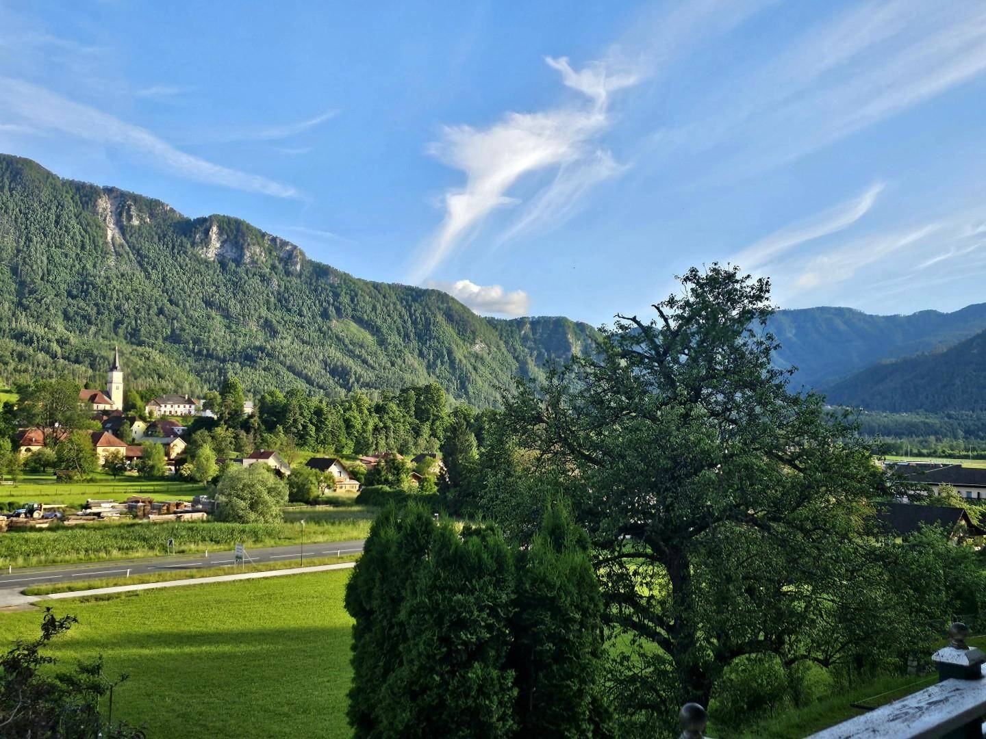
[[[617,170],[608,152],[600,154],[590,142],[609,125],[605,109],[609,93],[637,78],[629,72],[610,76],[604,62],[594,62],[582,72],[573,70],[565,58],[548,58],[547,63],[562,73],[566,85],[594,104],[508,113],[485,130],[447,126],[443,140],[430,151],[464,172],[466,181],[464,187],[445,194],[445,220],[416,259],[412,282],[428,278],[492,211],[518,204],[508,193],[526,174],[558,169],[546,194],[535,197],[533,210],[522,213],[519,223],[543,222],[548,214],[563,212],[589,184]],[[517,227],[512,231],[516,233]]]

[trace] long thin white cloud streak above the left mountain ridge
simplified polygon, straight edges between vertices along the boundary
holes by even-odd
[[[275,197],[299,197],[291,185],[185,154],[146,128],[21,80],[0,77],[0,106],[5,114],[37,132],[53,131],[122,149],[186,179]]]

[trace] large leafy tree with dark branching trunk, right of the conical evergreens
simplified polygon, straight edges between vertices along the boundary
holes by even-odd
[[[858,536],[886,483],[771,365],[768,281],[719,265],[680,281],[655,318],[617,316],[596,354],[522,381],[503,420],[589,529],[628,732],[708,705],[741,655],[832,664],[891,620]]]

